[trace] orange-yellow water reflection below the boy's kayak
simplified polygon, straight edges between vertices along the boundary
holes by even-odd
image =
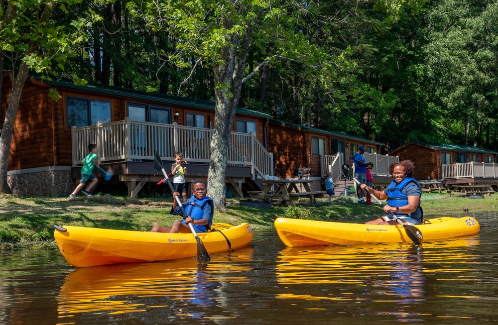
[[[181,259],[76,269],[65,278],[57,297],[59,317],[135,313],[151,324],[178,317],[230,318],[214,308],[223,300],[224,284],[249,282],[241,272],[252,269],[252,253],[250,247],[239,249],[228,257],[213,256],[204,265]]]

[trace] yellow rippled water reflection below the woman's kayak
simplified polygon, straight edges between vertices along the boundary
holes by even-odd
[[[393,315],[400,322],[419,321],[421,313],[415,306],[427,299],[426,291],[431,287],[427,276],[451,272],[458,278],[473,272],[469,265],[461,265],[479,265],[479,255],[472,253],[473,246],[480,244],[478,238],[456,238],[422,246],[285,247],[277,256],[275,269],[277,282],[285,290],[276,298],[301,301],[304,308],[308,302],[313,302],[312,308],[331,301],[360,303],[356,315]],[[317,285],[321,286],[320,291],[307,290]],[[373,307],[378,304],[381,307]]]

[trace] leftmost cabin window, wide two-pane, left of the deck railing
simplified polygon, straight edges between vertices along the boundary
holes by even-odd
[[[111,103],[87,100],[82,98],[68,97],[67,105],[67,125],[88,126],[97,122],[108,123],[111,121]]]

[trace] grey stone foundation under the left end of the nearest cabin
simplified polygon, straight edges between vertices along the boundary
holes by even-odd
[[[7,182],[12,195],[31,197],[67,196],[76,186],[76,180],[71,178],[70,167],[10,171],[7,173]]]

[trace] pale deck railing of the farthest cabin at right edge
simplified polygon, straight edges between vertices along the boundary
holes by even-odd
[[[455,163],[442,165],[443,179],[497,178],[498,165],[495,163]]]

